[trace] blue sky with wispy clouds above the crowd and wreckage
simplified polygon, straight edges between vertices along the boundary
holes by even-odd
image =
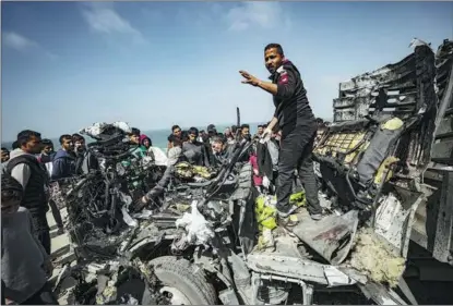
[[[2,139],[97,121],[142,130],[269,121],[263,47],[283,45],[315,115],[338,83],[453,38],[452,2],[2,2]]]

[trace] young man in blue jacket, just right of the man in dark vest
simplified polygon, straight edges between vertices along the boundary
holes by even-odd
[[[51,180],[67,179],[75,174],[75,159],[72,155],[74,144],[72,136],[64,134],[60,136],[61,148],[53,157]]]

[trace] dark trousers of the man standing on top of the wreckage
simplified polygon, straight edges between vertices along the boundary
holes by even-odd
[[[276,192],[276,206],[282,212],[288,212],[290,209],[289,196],[293,192],[295,169],[297,169],[306,192],[308,212],[310,215],[322,212],[318,198],[313,161],[311,159],[313,142],[317,135],[315,128],[313,127],[297,126],[289,134],[282,137],[281,151],[278,155],[278,183]]]

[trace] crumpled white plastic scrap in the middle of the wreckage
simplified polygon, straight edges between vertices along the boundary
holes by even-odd
[[[208,222],[204,219],[196,208],[196,200],[192,201],[192,211],[184,212],[181,219],[176,221],[177,228],[184,228],[187,241],[194,245],[206,245],[214,237],[214,231],[210,228]]]

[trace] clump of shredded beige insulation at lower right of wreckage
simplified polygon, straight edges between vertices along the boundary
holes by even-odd
[[[357,234],[350,265],[365,272],[370,280],[395,287],[404,272],[405,262],[403,257],[393,255],[370,229],[362,229]]]

